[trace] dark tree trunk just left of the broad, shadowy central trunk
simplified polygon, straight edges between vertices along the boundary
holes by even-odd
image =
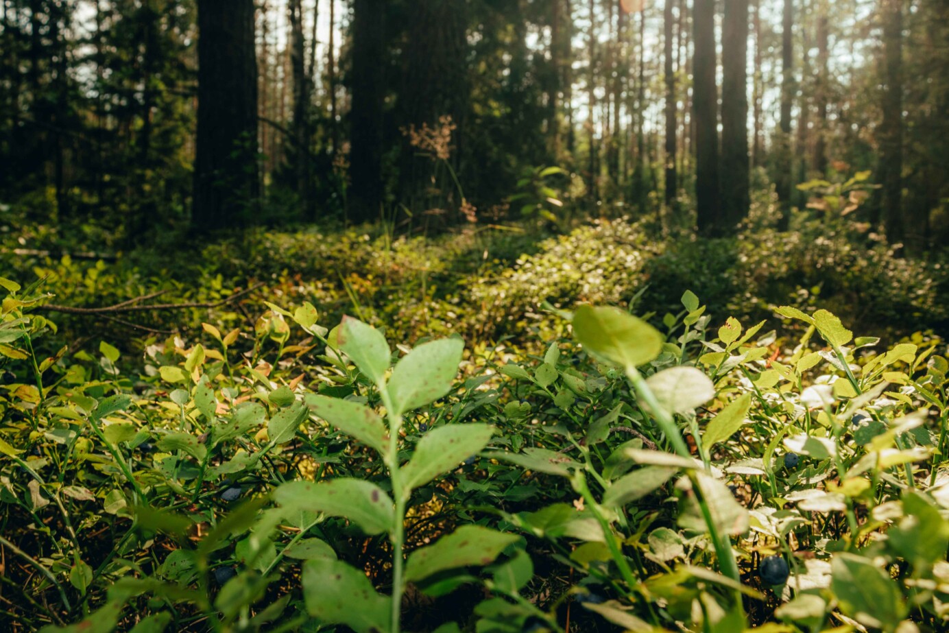
[[[366,222],[382,205],[382,119],[385,99],[385,0],[354,0],[352,105],[349,111],[348,219]]]

